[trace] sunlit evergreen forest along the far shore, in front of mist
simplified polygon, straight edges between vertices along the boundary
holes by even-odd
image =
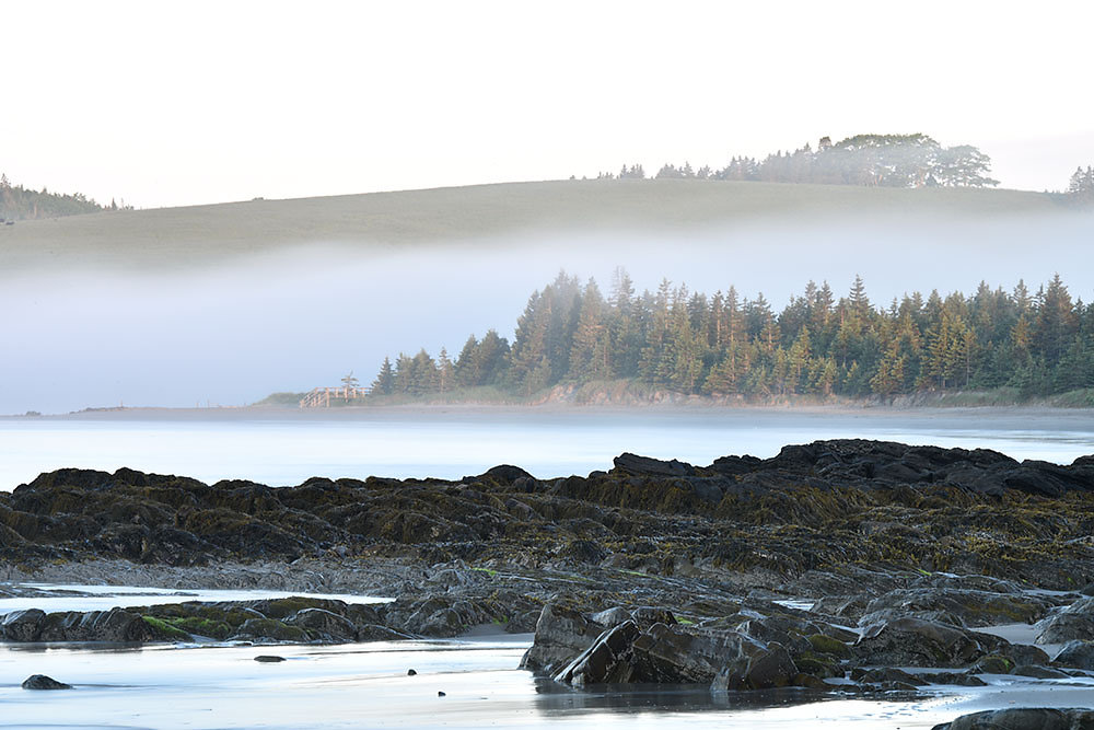
[[[472,335],[455,360],[442,349],[385,358],[371,396],[426,396],[490,385],[531,396],[561,383],[631,379],[680,393],[770,397],[892,396],[1011,386],[1022,395],[1094,387],[1094,305],[1055,276],[1031,293],[980,283],[875,306],[856,277],[836,299],[810,282],[776,313],[763,294],[708,297],[662,281],[635,293],[617,269],[605,298],[565,273],[536,291],[513,343]]]

